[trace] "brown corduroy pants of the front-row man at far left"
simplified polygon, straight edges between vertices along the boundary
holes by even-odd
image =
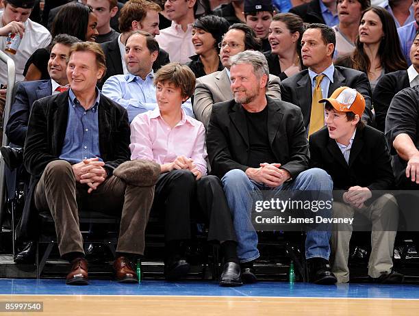
[[[79,207],[120,215],[116,251],[143,254],[144,231],[153,203],[154,186],[126,185],[118,177],[110,176],[92,193],[88,194],[87,190],[87,185],[76,183],[71,164],[64,160],[48,163],[36,186],[36,208],[51,211],[60,254],[84,253]]]

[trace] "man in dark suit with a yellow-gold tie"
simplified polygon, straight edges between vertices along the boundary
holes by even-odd
[[[324,105],[318,103],[320,98],[327,98],[343,85],[364,96],[366,110],[363,118],[371,122],[368,77],[358,70],[333,66],[335,43],[335,31],[331,27],[316,23],[308,25],[301,40],[301,56],[308,69],[282,81],[282,99],[301,107],[308,135],[325,126]]]

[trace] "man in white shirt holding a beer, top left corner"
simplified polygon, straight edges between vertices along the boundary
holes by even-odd
[[[35,0],[1,0],[4,11],[0,12],[0,49],[6,48],[7,37],[9,34],[19,34],[21,44],[16,54],[9,53],[8,56],[14,61],[16,67],[16,81],[22,81],[23,68],[28,58],[36,51],[47,47],[51,42],[51,34],[42,25],[29,19],[29,15],[34,8]],[[5,85],[8,82],[7,64],[0,63],[0,83]],[[0,98],[5,98],[5,89],[0,90]],[[4,101],[0,100],[0,117],[3,116]]]

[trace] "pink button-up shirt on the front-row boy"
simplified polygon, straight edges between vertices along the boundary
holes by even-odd
[[[201,122],[187,116],[182,109],[182,118],[175,127],[164,122],[160,109],[138,114],[131,122],[131,160],[147,159],[171,163],[178,156],[193,159],[196,167],[207,174],[207,150],[205,128]]]

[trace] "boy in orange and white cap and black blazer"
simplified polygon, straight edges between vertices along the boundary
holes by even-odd
[[[372,222],[368,276],[379,283],[403,282],[403,275],[392,269],[398,206],[394,196],[382,192],[394,182],[385,137],[361,121],[365,99],[355,89],[340,87],[319,103],[325,103],[326,126],[309,138],[310,166],[325,170],[333,189],[344,191],[334,197],[333,216],[353,218],[361,213],[368,218]],[[352,223],[334,224],[332,229],[332,272],[338,282],[349,281],[352,231]]]

